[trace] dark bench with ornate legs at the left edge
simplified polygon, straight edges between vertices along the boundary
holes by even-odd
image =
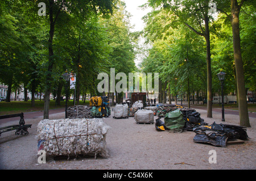
[[[26,124],[25,125],[23,112],[22,113],[16,113],[16,114],[13,114],[13,115],[0,116],[0,120],[10,118],[10,117],[20,117],[19,124],[9,125],[7,127],[1,127],[0,128],[0,136],[4,132],[9,132],[9,131],[13,131],[13,130],[16,130],[15,135],[19,135],[19,134],[26,135],[26,134],[28,134],[27,129],[31,128],[32,124]]]

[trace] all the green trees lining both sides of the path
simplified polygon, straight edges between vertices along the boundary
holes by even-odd
[[[39,3],[46,6],[39,15]],[[246,0],[148,0],[142,32],[131,32],[131,15],[119,0],[6,0],[0,4],[0,82],[11,91],[50,94],[60,104],[67,70],[76,74],[76,100],[100,95],[99,73],[159,73],[159,102],[207,99],[220,92],[217,73],[225,71],[225,94],[236,94],[241,125],[249,126],[246,91],[255,92],[255,3]],[[209,13],[211,10],[214,13]],[[40,9],[41,10],[41,9]],[[148,49],[135,66],[139,36]],[[127,80],[128,82],[128,80]],[[69,91],[70,92],[70,91]],[[104,92],[109,93],[109,92]],[[254,93],[255,94],[255,93]],[[122,94],[118,94],[118,97]],[[26,98],[26,96],[25,96]],[[25,99],[26,101],[26,99]],[[244,120],[244,121],[242,121]]]

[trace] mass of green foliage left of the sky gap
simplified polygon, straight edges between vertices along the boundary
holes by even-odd
[[[46,16],[38,16],[39,2]],[[135,70],[136,40],[123,2],[19,0],[0,10],[0,82],[13,90],[50,88],[56,95],[68,70],[77,75],[79,94],[94,94],[98,73]]]

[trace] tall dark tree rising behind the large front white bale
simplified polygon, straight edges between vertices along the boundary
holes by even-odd
[[[46,75],[46,90],[44,94],[44,119],[49,119],[49,95],[51,94],[51,85],[53,82],[52,70],[53,65],[56,64],[53,53],[53,37],[55,33],[55,26],[59,21],[60,14],[82,14],[86,18],[87,12],[94,12],[108,16],[112,13],[116,0],[97,0],[97,1],[36,1],[46,3],[46,14],[49,17],[49,39],[48,39],[48,68]],[[67,26],[67,25],[66,25]]]

